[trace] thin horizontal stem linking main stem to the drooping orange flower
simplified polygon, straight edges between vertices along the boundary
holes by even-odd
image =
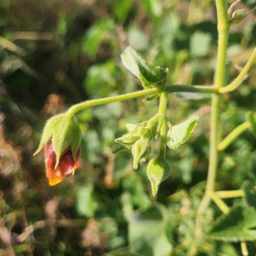
[[[192,85],[167,85],[165,87],[166,93],[174,92],[192,92],[192,93],[218,93],[215,87],[212,86],[192,86]],[[118,96],[107,97],[102,99],[92,99],[85,102],[78,103],[69,108],[68,112],[73,115],[77,111],[80,111],[84,108],[90,108],[96,105],[108,104],[111,102],[123,101],[127,99],[134,99],[138,97],[143,97],[151,95],[154,93],[160,93],[160,87],[154,87],[146,90],[139,90],[133,93],[121,94]]]

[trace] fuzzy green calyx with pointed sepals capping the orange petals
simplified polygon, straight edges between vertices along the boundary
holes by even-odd
[[[61,153],[70,145],[73,160],[76,161],[76,152],[81,142],[81,129],[75,116],[69,113],[52,116],[44,126],[40,144],[34,155],[38,154],[50,139],[56,154],[55,168],[59,164]]]

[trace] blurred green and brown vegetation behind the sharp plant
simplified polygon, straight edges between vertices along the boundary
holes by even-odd
[[[255,5],[245,0],[236,8],[250,11]],[[172,173],[157,198],[151,196],[145,166],[134,171],[130,151],[112,153],[125,123],[153,116],[157,99],[79,112],[81,165],[57,186],[48,186],[43,153],[32,157],[50,116],[82,100],[141,89],[121,64],[128,45],[147,61],[169,67],[167,84],[212,84],[215,16],[210,0],[0,1],[0,253],[241,255],[239,243],[196,236],[195,210],[208,166],[209,98],[169,96],[172,123],[194,112],[200,120],[186,144],[168,151]],[[255,19],[251,13],[230,29],[227,82],[255,47]],[[248,110],[256,111],[255,99],[254,67],[243,86],[224,97],[223,136],[244,122]],[[157,145],[152,148],[154,155]],[[218,190],[255,182],[256,138],[250,131],[221,153],[217,175]],[[212,203],[205,227],[219,215]],[[255,255],[256,243],[247,247]]]

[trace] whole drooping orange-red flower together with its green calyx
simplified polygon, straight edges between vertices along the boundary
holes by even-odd
[[[46,173],[55,185],[79,166],[81,129],[74,116],[63,113],[50,118],[35,154],[45,148]]]

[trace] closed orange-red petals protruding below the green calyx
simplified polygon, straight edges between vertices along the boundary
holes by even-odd
[[[49,181],[49,186],[55,186],[60,183],[66,175],[72,173],[79,167],[81,148],[79,146],[76,152],[76,159],[73,159],[71,145],[61,152],[58,166],[56,164],[56,154],[52,146],[52,141],[49,140],[44,146],[44,162],[46,168],[46,176]]]

